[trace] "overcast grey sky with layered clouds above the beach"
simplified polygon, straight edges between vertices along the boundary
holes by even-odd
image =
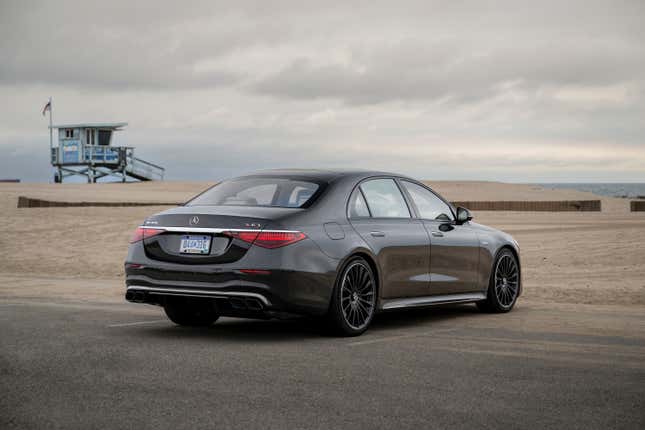
[[[0,178],[47,119],[127,121],[169,179],[360,167],[645,182],[645,2],[0,0]]]

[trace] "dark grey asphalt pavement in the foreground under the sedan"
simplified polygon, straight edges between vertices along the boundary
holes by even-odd
[[[178,327],[160,308],[0,300],[0,428],[645,428],[645,316],[520,304]]]

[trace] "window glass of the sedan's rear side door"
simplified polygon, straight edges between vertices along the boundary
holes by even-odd
[[[372,179],[361,184],[374,218],[410,218],[410,210],[393,179]]]

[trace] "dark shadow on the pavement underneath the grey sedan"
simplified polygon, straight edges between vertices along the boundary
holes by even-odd
[[[390,311],[378,314],[366,334],[401,334],[401,329],[428,328],[437,324],[445,328],[446,321],[458,321],[475,315],[481,314],[472,305]],[[323,318],[306,317],[287,320],[223,318],[210,327],[180,327],[168,321],[167,325],[140,327],[138,330],[161,338],[221,339],[228,342],[295,342],[336,337]]]

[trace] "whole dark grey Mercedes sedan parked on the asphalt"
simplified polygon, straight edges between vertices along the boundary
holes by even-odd
[[[315,315],[363,333],[377,312],[446,303],[510,311],[519,247],[425,184],[371,171],[223,181],[137,228],[126,299],[181,325]]]

